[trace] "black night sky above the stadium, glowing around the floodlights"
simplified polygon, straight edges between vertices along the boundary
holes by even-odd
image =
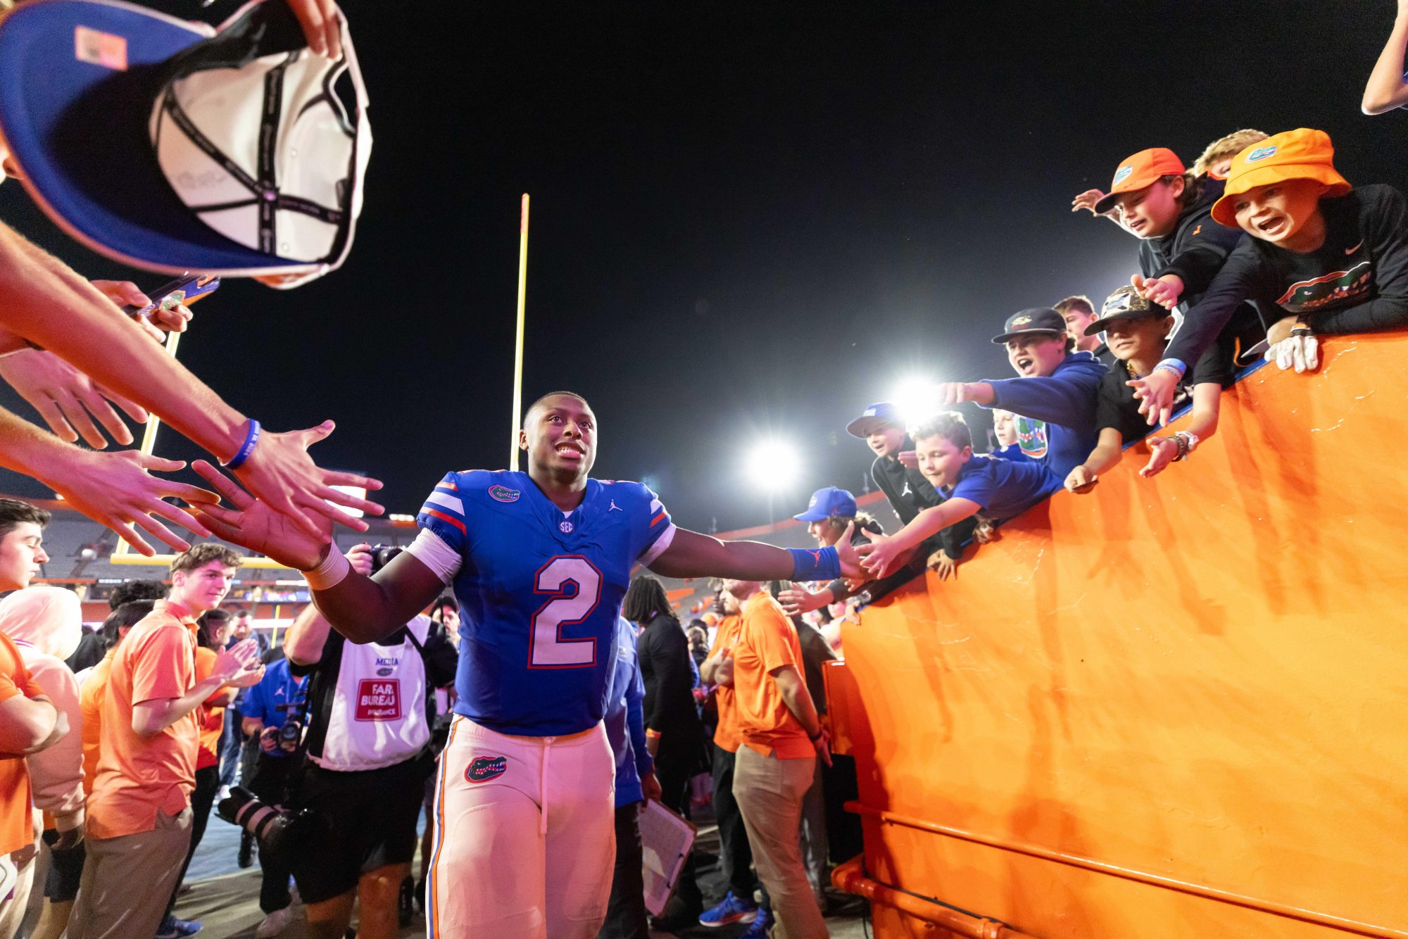
[[[352,256],[290,293],[227,282],[180,353],[268,428],[335,418],[315,459],[383,479],[390,511],[505,463],[524,191],[525,400],[584,394],[594,474],[707,531],[766,515],[749,445],[803,453],[779,515],[859,493],[843,427],[901,376],[1008,377],[1004,317],[1125,283],[1133,239],[1069,206],[1133,151],[1191,166],[1240,127],[1318,127],[1350,182],[1408,182],[1408,117],[1359,113],[1391,0],[346,10],[376,135]],[[0,217],[87,276],[165,280],[18,184]]]

